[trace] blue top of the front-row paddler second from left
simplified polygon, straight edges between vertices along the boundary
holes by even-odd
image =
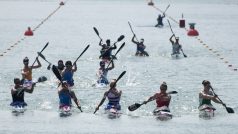
[[[63,106],[71,106],[71,96],[69,90],[59,92],[59,105],[60,108]]]

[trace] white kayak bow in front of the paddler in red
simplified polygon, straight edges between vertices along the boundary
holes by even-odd
[[[168,107],[163,106],[156,108],[153,111],[154,116],[156,116],[156,119],[159,119],[161,121],[166,121],[172,119],[173,115],[171,114],[170,110]]]

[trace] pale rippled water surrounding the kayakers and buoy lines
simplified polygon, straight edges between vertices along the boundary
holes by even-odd
[[[159,1],[160,2],[160,1]],[[237,2],[222,1],[157,1],[156,6],[169,16],[179,20],[181,14],[186,23],[195,22],[199,38],[221,57],[204,47],[196,38],[186,35],[176,23],[172,28],[183,45],[187,58],[171,59],[171,31],[164,20],[163,29],[148,27],[156,24],[158,11],[146,5],[145,1],[68,1],[53,16],[35,31],[33,37],[27,37],[19,45],[8,50],[0,57],[0,132],[1,133],[236,133],[238,101],[236,94],[238,50]],[[0,52],[6,51],[23,37],[28,26],[34,28],[58,7],[58,1],[0,1]],[[200,9],[202,10],[195,10]],[[222,10],[221,10],[222,9]],[[132,33],[128,26],[131,22],[137,37],[144,38],[149,58],[134,57],[135,44],[131,43]],[[96,81],[99,68],[99,38],[93,31],[99,30],[104,41],[109,38],[116,41],[123,34],[126,46],[118,54],[115,69],[109,72],[109,79],[117,78],[126,70],[119,81],[118,88],[123,91],[121,104],[122,116],[116,120],[107,119],[103,106],[96,115],[92,114],[107,88],[91,87]],[[28,109],[23,115],[14,116],[9,104],[10,87],[14,77],[20,77],[22,59],[30,57],[30,63],[44,45],[49,46],[43,52],[47,60],[57,63],[59,59],[74,61],[83,49],[90,48],[79,59],[75,73],[75,92],[80,98],[84,113],[74,109],[72,116],[60,118],[57,112],[58,96],[54,75],[47,70],[48,64],[41,60],[42,68],[34,70],[33,77],[44,75],[49,81],[37,84],[33,94],[26,94]],[[120,46],[120,44],[118,45]],[[228,61],[228,63],[224,63]],[[232,64],[232,67],[228,67]],[[235,114],[217,108],[215,118],[198,118],[198,92],[202,80],[210,80],[215,91],[227,106],[234,108]],[[127,106],[146,100],[158,91],[162,81],[168,84],[168,90],[178,91],[172,95],[171,111],[174,118],[167,122],[157,121],[151,111],[155,103],[151,102],[134,112]],[[20,129],[16,129],[19,128]],[[207,129],[209,126],[209,129]],[[93,128],[93,129],[92,129]],[[199,130],[198,130],[199,128]]]

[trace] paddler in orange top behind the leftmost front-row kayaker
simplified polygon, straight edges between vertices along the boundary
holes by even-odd
[[[28,57],[25,57],[23,59],[24,68],[21,71],[23,86],[29,87],[32,85],[32,69],[37,69],[41,67],[41,63],[38,57],[36,57],[36,62],[37,62],[37,65],[29,66]]]

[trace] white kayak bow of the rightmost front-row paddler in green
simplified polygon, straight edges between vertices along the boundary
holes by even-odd
[[[212,105],[207,105],[207,104],[200,106],[198,109],[199,109],[200,118],[214,117],[214,111],[216,110]]]

